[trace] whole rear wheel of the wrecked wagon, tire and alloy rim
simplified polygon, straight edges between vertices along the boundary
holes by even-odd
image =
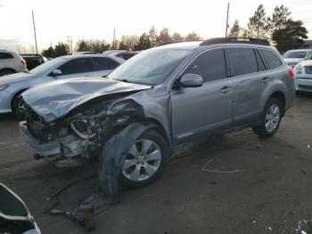
[[[278,130],[283,114],[283,104],[275,98],[268,100],[264,112],[261,114],[260,124],[252,130],[260,138],[272,137]]]

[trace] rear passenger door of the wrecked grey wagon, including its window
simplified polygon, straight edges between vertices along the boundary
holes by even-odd
[[[236,124],[253,121],[261,112],[260,96],[266,88],[266,67],[257,49],[227,47],[234,82],[233,118]]]

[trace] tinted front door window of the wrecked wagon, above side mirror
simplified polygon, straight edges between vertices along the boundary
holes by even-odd
[[[184,73],[201,75],[203,82],[226,78],[226,58],[224,50],[212,49],[199,55]]]

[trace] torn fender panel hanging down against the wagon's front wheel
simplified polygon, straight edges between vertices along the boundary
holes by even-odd
[[[133,146],[135,139],[140,137],[145,130],[154,128],[153,125],[133,123],[121,130],[118,135],[112,136],[103,147],[99,177],[103,193],[111,201],[119,201],[119,176],[127,152]]]

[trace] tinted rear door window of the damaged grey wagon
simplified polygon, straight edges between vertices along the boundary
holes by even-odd
[[[258,72],[258,63],[252,48],[229,47],[227,51],[232,60],[234,76]]]

